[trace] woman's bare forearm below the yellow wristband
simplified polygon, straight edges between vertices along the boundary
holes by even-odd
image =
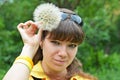
[[[3,80],[28,80],[30,71],[28,67],[21,63],[15,63],[9,69]]]

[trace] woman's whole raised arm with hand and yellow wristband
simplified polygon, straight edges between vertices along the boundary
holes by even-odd
[[[33,64],[32,59],[39,47],[41,41],[42,30],[39,29],[32,21],[20,23],[17,26],[18,31],[22,37],[24,47],[20,57],[15,60],[12,67],[4,76],[3,80],[28,80]],[[22,56],[22,58],[21,58]]]

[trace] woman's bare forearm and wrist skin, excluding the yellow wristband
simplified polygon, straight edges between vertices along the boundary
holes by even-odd
[[[20,56],[27,56],[32,59],[34,57],[33,53],[35,53],[35,50],[33,50],[32,47],[25,45]],[[3,80],[28,80],[29,76],[30,69],[21,62],[15,62],[4,76]]]

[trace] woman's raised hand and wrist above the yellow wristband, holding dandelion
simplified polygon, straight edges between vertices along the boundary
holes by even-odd
[[[33,58],[41,43],[42,29],[38,30],[37,25],[32,21],[20,23],[17,28],[24,43],[21,55]]]

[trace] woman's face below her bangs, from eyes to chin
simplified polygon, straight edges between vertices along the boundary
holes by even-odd
[[[52,40],[46,36],[42,43],[43,65],[52,71],[63,71],[73,61],[78,45],[71,42]],[[44,67],[43,66],[43,67]]]

